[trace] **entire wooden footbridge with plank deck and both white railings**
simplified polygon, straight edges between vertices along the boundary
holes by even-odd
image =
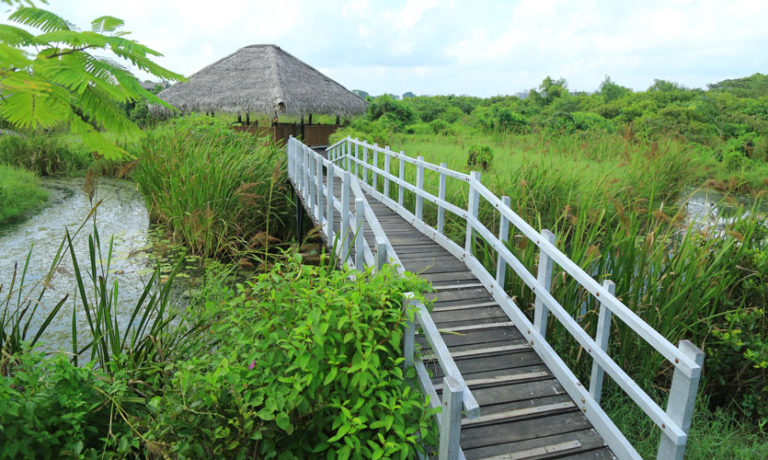
[[[598,282],[571,261],[555,246],[551,232],[539,232],[522,220],[509,207],[509,197],[496,196],[479,173],[465,174],[350,138],[329,149],[322,155],[291,138],[286,153],[299,209],[306,209],[319,226],[337,260],[360,270],[394,263],[434,288],[428,294],[434,301],[431,312],[405,296],[416,315],[406,328],[403,354],[430,404],[442,404],[441,459],[641,459],[601,406],[605,377],[659,430],[657,459],[683,460],[704,360],[701,350],[685,340],[677,346],[666,340],[614,295],[609,279]],[[431,187],[425,187],[425,173],[432,175]],[[465,202],[446,199],[449,179],[468,193]],[[408,200],[404,192],[411,194]],[[481,200],[498,212],[498,236],[478,218]],[[437,207],[429,222],[423,216],[425,203]],[[444,233],[446,213],[466,223],[463,246]],[[535,244],[537,275],[507,243],[512,228]],[[493,251],[495,276],[474,254],[476,238]],[[550,292],[555,265],[557,276],[575,281],[599,304],[596,331],[585,331]],[[535,293],[533,321],[505,290],[505,270]],[[608,353],[616,322],[674,369],[665,409]],[[588,383],[547,342],[547,329],[556,323],[591,359]]]

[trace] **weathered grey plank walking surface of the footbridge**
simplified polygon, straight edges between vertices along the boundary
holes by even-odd
[[[334,188],[340,199],[341,186]],[[432,283],[432,319],[480,404],[480,417],[462,420],[466,458],[616,458],[464,262],[370,195],[366,198],[403,268]],[[339,220],[336,215],[335,228]],[[365,228],[364,234],[373,248],[373,231]],[[426,339],[419,336],[417,342],[441,394],[442,370]]]

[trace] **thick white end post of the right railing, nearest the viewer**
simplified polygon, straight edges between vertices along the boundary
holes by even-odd
[[[681,340],[677,346],[680,353],[692,359],[696,364],[704,364],[704,352],[688,340]],[[667,400],[667,415],[680,426],[686,434],[691,427],[691,417],[693,408],[696,405],[696,393],[699,388],[699,379],[701,373],[696,373],[695,377],[688,377],[679,368],[675,367],[672,374],[672,386],[669,388],[669,399]],[[668,431],[662,427],[661,441],[659,442],[659,451],[656,454],[657,460],[682,460],[685,454],[685,445],[687,439],[684,438],[680,444],[669,439]]]

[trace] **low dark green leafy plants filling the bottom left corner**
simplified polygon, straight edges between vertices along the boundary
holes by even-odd
[[[136,399],[124,373],[113,378],[64,355],[3,360],[0,458],[125,458],[139,447],[121,413]]]

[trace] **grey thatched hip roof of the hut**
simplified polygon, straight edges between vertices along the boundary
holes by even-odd
[[[241,48],[158,96],[182,112],[354,115],[367,107],[357,95],[275,45]]]

